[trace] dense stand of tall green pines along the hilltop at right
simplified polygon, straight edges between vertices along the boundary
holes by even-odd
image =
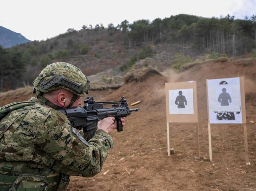
[[[198,53],[217,52],[239,56],[256,47],[256,16],[235,20],[234,16],[202,18],[179,14],[169,18],[121,23],[129,44],[177,43],[190,46]]]

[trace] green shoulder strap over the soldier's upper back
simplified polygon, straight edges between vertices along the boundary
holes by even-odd
[[[0,107],[0,120],[4,118],[9,112],[23,108],[29,105],[39,104],[36,102],[14,102],[5,106]]]

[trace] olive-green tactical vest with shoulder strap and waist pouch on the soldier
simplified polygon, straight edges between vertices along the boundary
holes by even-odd
[[[11,111],[36,104],[40,103],[30,101],[14,102],[2,106],[0,107],[0,120]],[[0,138],[2,138],[6,130],[0,127]],[[0,171],[0,191],[65,191],[69,181],[69,175],[62,173],[49,175],[14,174],[11,173],[11,165],[5,165]]]

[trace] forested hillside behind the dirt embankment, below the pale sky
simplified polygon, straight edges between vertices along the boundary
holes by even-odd
[[[70,62],[86,75],[112,77],[135,67],[179,69],[187,62],[220,56],[256,56],[256,16],[236,20],[180,14],[165,19],[127,20],[118,26],[83,25],[45,41],[0,47],[0,91],[31,85],[47,64]],[[150,59],[147,59],[150,58]],[[106,77],[102,76],[102,80]]]

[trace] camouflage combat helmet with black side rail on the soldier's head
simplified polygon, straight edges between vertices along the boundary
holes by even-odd
[[[89,90],[89,80],[82,71],[66,62],[47,65],[33,81],[36,95],[56,89],[67,89],[77,96],[85,96]],[[38,91],[39,90],[39,91]]]

